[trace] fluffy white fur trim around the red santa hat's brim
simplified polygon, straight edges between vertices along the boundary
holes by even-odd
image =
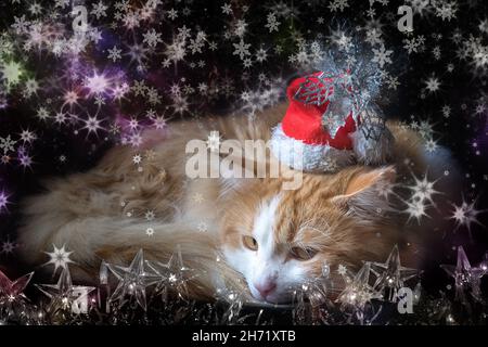
[[[355,155],[349,150],[337,150],[328,144],[308,144],[287,137],[279,124],[271,134],[271,151],[282,163],[310,172],[334,172],[352,165]]]

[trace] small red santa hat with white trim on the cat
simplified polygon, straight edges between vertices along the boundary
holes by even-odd
[[[348,72],[336,76],[318,72],[295,79],[286,89],[286,114],[272,131],[273,154],[294,169],[322,172],[361,159],[367,164],[383,159],[383,146],[358,131],[362,111],[358,94]],[[389,146],[384,142],[380,144]]]

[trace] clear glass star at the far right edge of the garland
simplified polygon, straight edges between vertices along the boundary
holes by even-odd
[[[441,265],[440,266],[451,278],[454,279],[455,297],[454,299],[461,303],[467,303],[465,293],[471,293],[471,296],[476,301],[481,301],[480,283],[481,278],[487,273],[481,267],[472,268],[466,253],[462,246],[458,247],[457,265]]]

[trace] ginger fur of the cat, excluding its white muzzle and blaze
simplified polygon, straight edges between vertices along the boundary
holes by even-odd
[[[166,261],[180,245],[183,260],[208,273],[190,283],[193,296],[211,297],[216,284],[210,279],[216,278],[245,291],[240,275],[224,261],[217,261],[216,255],[222,244],[242,247],[241,237],[251,233],[259,204],[275,194],[282,194],[273,226],[275,243],[284,248],[307,245],[318,249],[318,256],[308,260],[311,275],[321,271],[325,260],[331,267],[344,264],[354,268],[363,259],[384,260],[394,244],[404,254],[415,247],[413,233],[404,233],[390,202],[377,193],[378,184],[407,175],[406,160],[413,160],[416,171],[425,169],[419,136],[396,123],[388,127],[396,138],[393,165],[397,174],[364,166],[335,175],[304,174],[303,184],[295,191],[283,191],[282,178],[239,182],[185,178],[189,140],[206,140],[209,131],[218,130],[239,142],[266,141],[285,107],[265,111],[256,121],[242,116],[175,123],[165,134],[147,131],[140,149],[116,146],[92,170],[47,182],[44,194],[24,204],[20,239],[25,260],[41,264],[41,250],[50,249],[51,244],[66,244],[78,265],[75,277],[93,280],[102,258],[127,264],[143,248],[147,258]],[[143,160],[140,172],[132,156],[147,150],[154,157]],[[195,194],[205,201],[195,203]],[[155,213],[155,221],[144,221],[147,209]],[[194,227],[201,219],[207,220],[207,232]],[[153,236],[144,233],[149,226],[154,227]]]

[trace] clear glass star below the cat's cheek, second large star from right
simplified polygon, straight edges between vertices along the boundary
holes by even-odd
[[[419,270],[401,266],[398,245],[394,246],[385,262],[371,262],[371,271],[376,275],[374,290],[390,303],[397,301],[398,291],[404,286],[404,282],[419,274]]]

